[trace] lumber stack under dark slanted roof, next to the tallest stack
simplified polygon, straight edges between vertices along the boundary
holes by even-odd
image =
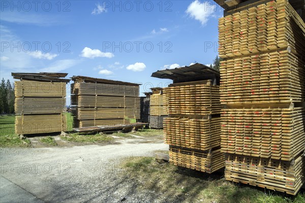
[[[219,72],[196,63],[158,71],[152,77],[173,80],[173,84],[163,88],[168,98],[164,139],[169,145],[170,162],[206,173],[224,167]]]

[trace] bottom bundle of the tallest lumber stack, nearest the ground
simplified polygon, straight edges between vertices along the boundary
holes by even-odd
[[[226,154],[225,178],[295,195],[304,182],[305,156],[294,161]]]

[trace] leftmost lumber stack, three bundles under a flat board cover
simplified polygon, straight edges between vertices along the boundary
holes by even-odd
[[[63,114],[68,74],[12,73],[15,81],[15,133],[36,134],[67,130]]]

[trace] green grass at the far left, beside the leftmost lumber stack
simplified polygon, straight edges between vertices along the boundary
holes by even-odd
[[[0,147],[28,147],[28,139],[15,134],[15,116],[0,116]]]

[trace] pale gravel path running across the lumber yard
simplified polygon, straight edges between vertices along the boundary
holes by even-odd
[[[1,148],[0,200],[120,202],[129,190],[124,189],[128,187],[125,183],[113,185],[116,173],[122,170],[118,160],[154,156],[155,150],[167,149],[162,140],[153,138],[122,139],[105,146]],[[119,192],[107,193],[110,187]],[[19,196],[8,195],[14,193]]]

